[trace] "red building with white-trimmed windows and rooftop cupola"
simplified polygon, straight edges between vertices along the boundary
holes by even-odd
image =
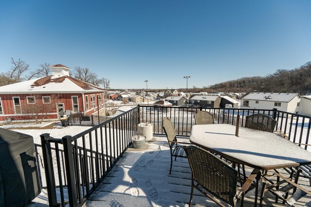
[[[90,115],[104,108],[103,88],[70,77],[71,69],[61,64],[49,68],[50,76],[0,86],[0,123],[29,120],[23,113],[26,108],[50,106],[44,120],[59,120],[66,113]]]

